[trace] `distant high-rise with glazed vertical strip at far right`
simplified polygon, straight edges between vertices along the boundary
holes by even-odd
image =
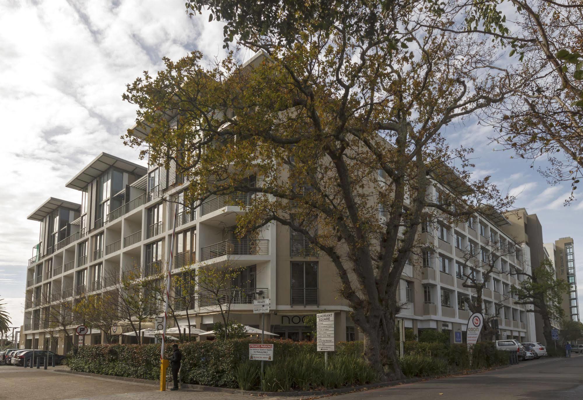
[[[545,243],[544,246],[550,261],[553,263],[557,279],[563,279],[569,284],[569,291],[563,294],[563,302],[561,303],[565,317],[573,321],[580,321],[573,238],[561,237],[554,243]]]

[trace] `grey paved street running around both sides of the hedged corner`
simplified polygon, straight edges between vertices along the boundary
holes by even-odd
[[[64,368],[64,367],[60,367]],[[518,366],[468,376],[378,388],[339,395],[341,400],[391,399],[581,399],[583,356],[522,362]],[[53,372],[50,369],[0,367],[0,399],[15,397],[87,400],[245,399],[249,395],[179,391],[159,392],[156,385]],[[270,397],[265,397],[270,398]],[[273,399],[300,399],[271,397]]]

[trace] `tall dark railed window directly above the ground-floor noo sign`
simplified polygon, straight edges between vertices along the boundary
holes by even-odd
[[[291,305],[318,304],[318,262],[291,262]]]

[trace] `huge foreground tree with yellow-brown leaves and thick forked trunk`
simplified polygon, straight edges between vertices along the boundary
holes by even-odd
[[[401,378],[396,292],[422,213],[456,223],[512,202],[488,178],[472,180],[472,150],[441,133],[509,93],[493,54],[423,27],[445,22],[422,1],[208,3],[227,38],[264,57],[242,65],[231,54],[208,68],[199,52],[164,59],[164,71],[127,87],[138,112],[125,143],[175,163],[195,206],[250,195],[240,236],[272,222],[303,235],[335,266],[368,362]],[[428,195],[434,184],[440,202]]]

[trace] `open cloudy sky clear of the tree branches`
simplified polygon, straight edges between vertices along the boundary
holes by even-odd
[[[184,0],[0,0],[0,299],[23,320],[26,262],[39,223],[26,219],[48,197],[80,202],[65,183],[99,152],[139,162],[120,135],[134,122],[125,84],[192,50],[223,57],[222,25],[189,19]],[[242,58],[250,57],[242,54]],[[583,288],[583,203],[563,207],[568,187],[549,187],[528,164],[494,152],[488,129],[459,124],[452,141],[476,148],[477,177],[492,175],[517,206],[536,213],[545,241],[575,239]],[[583,291],[580,289],[580,297]]]

